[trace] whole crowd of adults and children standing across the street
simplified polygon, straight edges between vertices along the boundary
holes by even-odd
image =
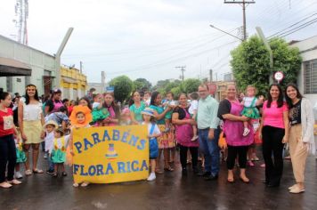
[[[44,174],[37,167],[40,148],[47,159],[46,173],[66,176],[64,163],[71,165],[72,129],[90,126],[147,125],[150,149],[150,175],[175,170],[179,149],[182,174],[191,163],[192,173],[207,181],[218,179],[221,156],[226,161],[227,181],[235,182],[233,168],[240,167],[240,181],[250,182],[247,166],[255,166],[255,139],[262,142],[268,188],[278,187],[283,173],[283,149],[289,154],[296,183],[289,192],[305,191],[305,162],[314,154],[313,107],[297,86],[289,84],[284,92],[272,84],[267,96],[256,97],[256,87],[248,85],[246,96],[238,97],[235,85],[228,85],[226,97],[218,102],[207,85],[195,93],[173,93],[165,97],[154,91],[134,91],[126,106],[118,106],[113,93],[91,90],[77,101],[61,99],[61,90],[41,98],[36,85],[27,85],[25,94],[12,99],[0,95],[0,187],[20,184],[20,165],[25,175]],[[219,137],[222,136],[222,142]],[[32,150],[30,153],[29,150]],[[162,158],[163,155],[163,158]],[[30,166],[32,159],[32,166]],[[163,161],[160,161],[163,159]],[[201,161],[201,167],[199,167]],[[161,164],[163,163],[163,166]],[[87,186],[89,182],[76,183]]]

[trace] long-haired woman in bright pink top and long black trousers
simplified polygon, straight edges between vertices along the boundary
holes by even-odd
[[[272,188],[280,185],[283,173],[283,147],[289,140],[289,109],[280,85],[273,84],[269,90],[268,100],[263,105],[259,133],[260,138],[263,137],[264,183]]]

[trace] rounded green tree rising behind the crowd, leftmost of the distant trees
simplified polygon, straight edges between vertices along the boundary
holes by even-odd
[[[115,99],[117,101],[125,101],[132,92],[133,82],[129,77],[119,76],[110,81],[110,86],[114,86]]]

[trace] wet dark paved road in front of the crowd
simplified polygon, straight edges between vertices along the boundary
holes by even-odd
[[[0,189],[0,209],[317,209],[314,158],[308,159],[306,191],[300,195],[287,190],[294,182],[289,160],[285,160],[278,189],[265,188],[260,163],[248,168],[248,184],[238,180],[233,184],[226,182],[224,163],[219,179],[209,182],[191,172],[183,177],[177,164],[175,172],[158,175],[155,182],[92,184],[85,189],[73,188],[70,175],[53,178],[35,174],[23,178],[20,186]],[[41,160],[41,164],[45,165],[45,161]]]

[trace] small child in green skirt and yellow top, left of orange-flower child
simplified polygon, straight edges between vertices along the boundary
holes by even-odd
[[[55,129],[53,133],[53,149],[52,151],[50,149],[50,153],[52,153],[51,159],[54,164],[54,173],[52,175],[53,177],[57,177],[60,169],[61,175],[67,176],[64,163],[66,161],[66,148],[69,141],[69,135],[64,136],[62,127]]]

